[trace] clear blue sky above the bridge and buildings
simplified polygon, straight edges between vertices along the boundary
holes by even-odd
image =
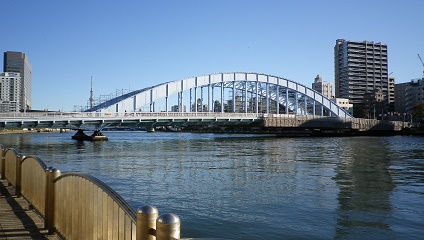
[[[422,0],[3,0],[0,51],[25,52],[33,109],[217,72],[334,83],[336,39],[387,44],[396,83],[422,76]],[[1,69],[2,70],[2,69]]]

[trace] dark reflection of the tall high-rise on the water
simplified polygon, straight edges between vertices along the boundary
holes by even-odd
[[[361,233],[365,239],[376,238],[390,230],[386,222],[395,187],[389,167],[390,150],[375,138],[354,139],[340,149],[340,161],[333,178],[339,186],[336,238],[345,239]]]

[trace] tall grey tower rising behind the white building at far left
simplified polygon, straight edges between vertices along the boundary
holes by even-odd
[[[22,52],[5,52],[3,62],[4,72],[20,73],[20,106],[23,111],[31,109],[32,100],[32,66],[28,57]]]

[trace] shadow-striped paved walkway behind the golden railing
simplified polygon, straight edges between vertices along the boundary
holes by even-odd
[[[0,239],[60,239],[48,235],[44,220],[22,197],[15,196],[15,189],[6,180],[0,180]]]

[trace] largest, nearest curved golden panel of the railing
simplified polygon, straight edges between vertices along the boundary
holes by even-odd
[[[100,180],[67,173],[56,177],[53,185],[52,222],[59,235],[72,239],[135,236],[135,211]]]

